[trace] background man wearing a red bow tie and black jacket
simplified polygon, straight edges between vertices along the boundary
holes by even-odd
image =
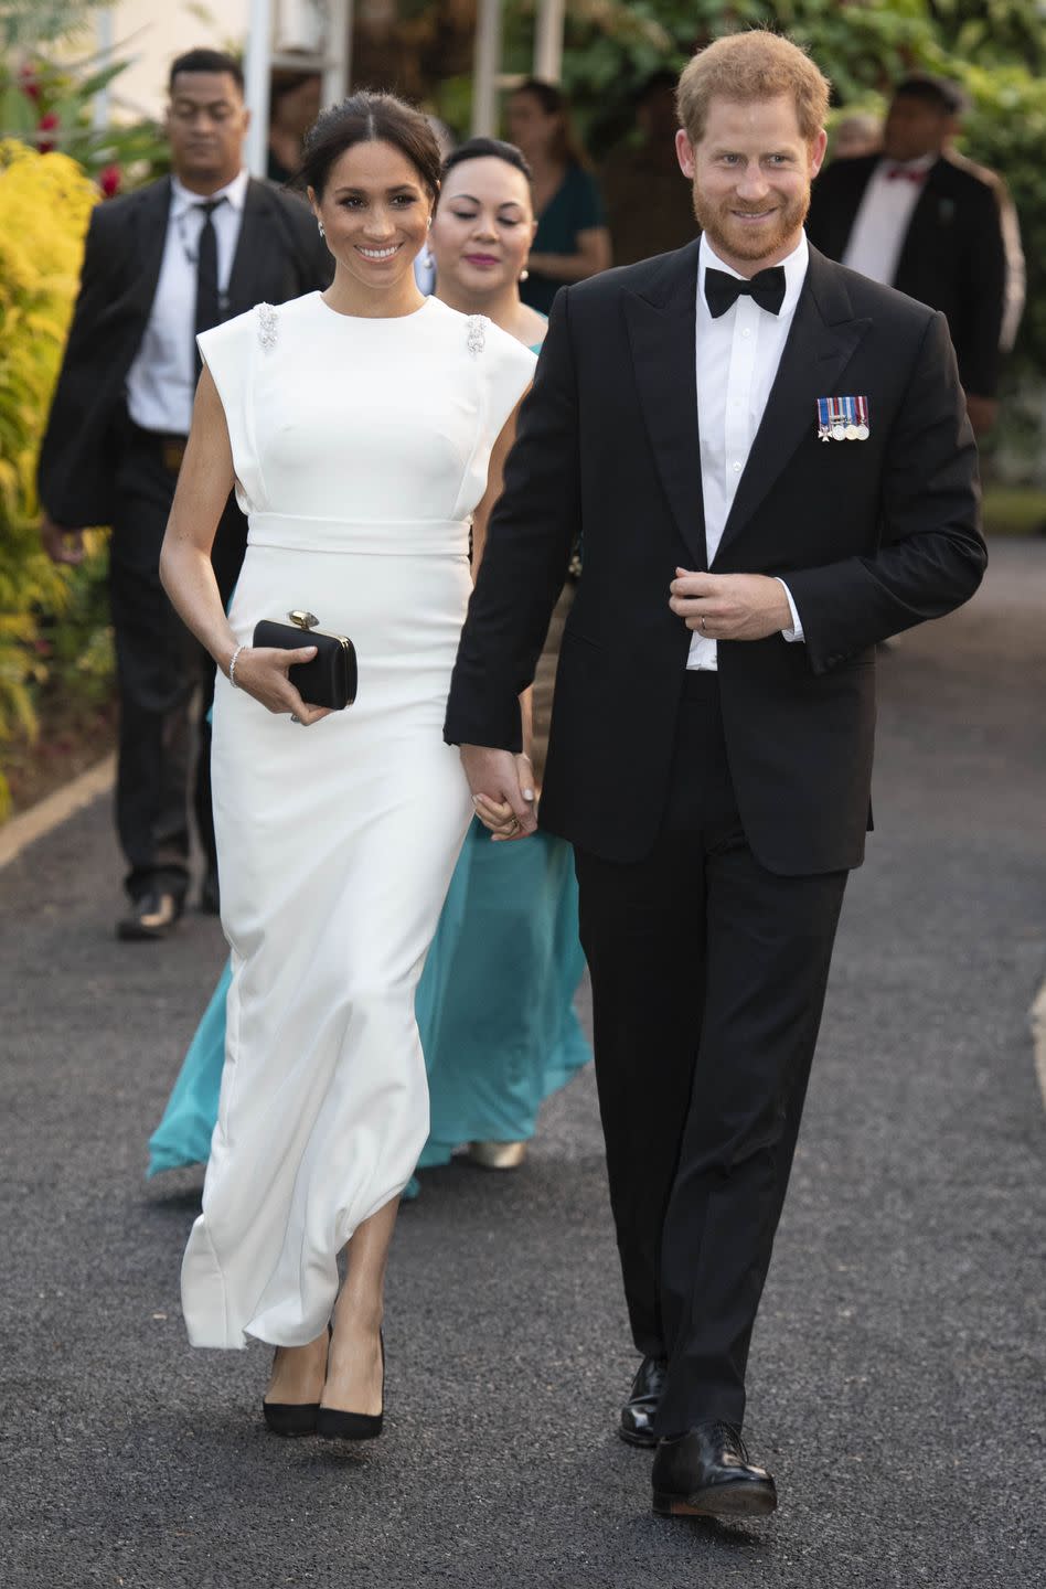
[[[995,421],[1008,249],[998,184],[949,153],[962,94],[909,76],[893,91],[882,154],[828,165],[814,184],[812,243],[900,292],[939,308],[978,434]],[[1019,253],[1017,238],[1017,253]]]

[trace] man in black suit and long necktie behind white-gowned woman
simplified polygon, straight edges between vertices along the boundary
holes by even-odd
[[[130,910],[118,934],[164,938],[188,890],[191,707],[202,686],[196,815],[207,856],[202,904],[218,909],[210,807],[215,669],[159,582],[159,551],[199,375],[196,332],[331,280],[308,208],[243,168],[243,73],[194,49],[170,70],[172,178],[99,205],[40,453],[41,535],[59,563],[83,556],[81,526],[111,524],[110,597],[121,728],[116,823]],[[231,497],[215,540],[227,601],[246,520]]]

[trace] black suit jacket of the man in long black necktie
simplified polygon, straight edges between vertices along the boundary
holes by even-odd
[[[79,296],[40,451],[40,501],[59,524],[108,524],[124,383],[149,319],[170,218],[170,178],[97,205]],[[229,316],[326,288],[331,254],[312,211],[267,183],[246,191]]]

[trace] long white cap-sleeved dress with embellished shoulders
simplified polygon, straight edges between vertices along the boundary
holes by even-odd
[[[472,815],[442,737],[469,516],[534,356],[437,299],[359,319],[318,292],[200,351],[250,520],[237,640],[305,609],[359,661],[356,704],[312,728],[221,674],[215,694],[232,987],[183,1313],[194,1346],[302,1346],[327,1325],[340,1247],[429,1131],[413,998]]]

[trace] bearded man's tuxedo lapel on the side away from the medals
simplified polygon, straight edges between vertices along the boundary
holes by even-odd
[[[661,283],[625,300],[636,385],[658,474],[695,569],[707,569],[696,375],[698,245],[666,261]]]

